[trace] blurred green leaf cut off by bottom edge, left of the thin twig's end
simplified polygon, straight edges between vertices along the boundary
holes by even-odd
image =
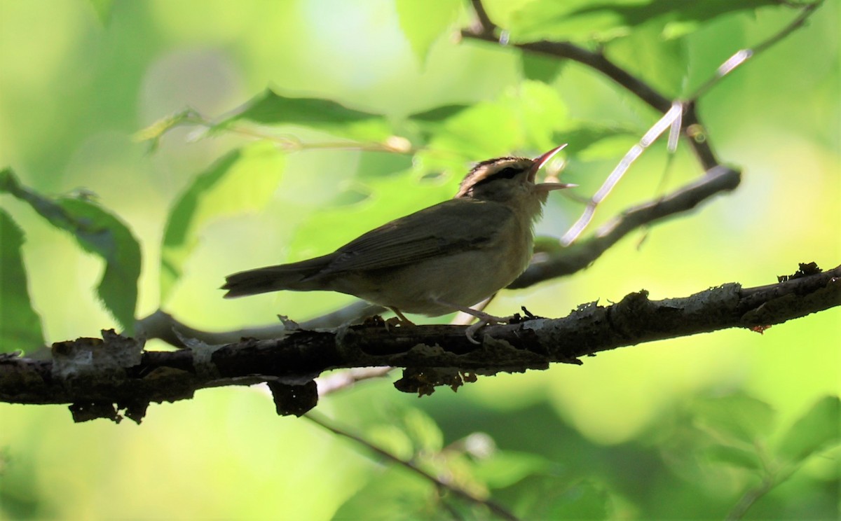
[[[339,507],[333,519],[438,519],[431,482],[399,467],[389,467]]]

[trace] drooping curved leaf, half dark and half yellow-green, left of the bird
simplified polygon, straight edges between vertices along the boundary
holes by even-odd
[[[172,207],[161,247],[161,302],[182,275],[200,230],[214,218],[263,208],[278,187],[286,155],[269,143],[234,150],[193,180]]]

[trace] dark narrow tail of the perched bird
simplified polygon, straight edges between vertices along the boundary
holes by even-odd
[[[283,289],[299,292],[320,289],[309,279],[325,269],[331,260],[333,260],[333,255],[324,255],[293,264],[240,271],[226,276],[225,286],[221,289],[228,290],[225,293],[225,298],[245,297],[246,295],[277,292]]]

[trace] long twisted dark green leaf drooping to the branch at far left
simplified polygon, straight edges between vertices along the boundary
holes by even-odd
[[[51,199],[21,185],[11,170],[0,172],[0,192],[11,193],[50,221],[69,232],[82,249],[105,261],[97,294],[127,334],[135,323],[140,245],[130,229],[111,213],[85,198]]]

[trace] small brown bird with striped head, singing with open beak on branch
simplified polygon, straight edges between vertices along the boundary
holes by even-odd
[[[407,324],[404,313],[435,317],[455,311],[479,318],[474,326],[502,322],[471,306],[526,270],[548,193],[576,186],[536,182],[537,171],[565,146],[535,159],[481,161],[452,199],[394,219],[327,255],[234,273],[221,289],[225,298],[341,292],[389,308]],[[476,343],[472,332],[468,339]]]

